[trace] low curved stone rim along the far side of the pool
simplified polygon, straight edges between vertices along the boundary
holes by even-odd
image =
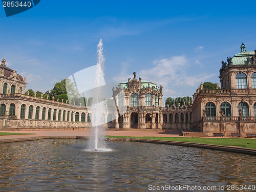
[[[39,137],[28,137],[28,138],[13,138],[13,139],[0,139],[0,143],[10,143],[19,141],[34,141],[38,139],[87,139],[88,136],[39,136]],[[234,153],[242,153],[248,155],[255,155],[256,150],[252,148],[241,148],[225,145],[212,145],[212,144],[202,144],[202,143],[189,143],[180,141],[162,141],[153,139],[135,139],[135,138],[106,138],[107,141],[132,141],[132,142],[145,142],[145,143],[158,143],[158,144],[168,144],[168,145],[179,145],[179,146],[189,146],[206,148],[210,150],[227,151]]]

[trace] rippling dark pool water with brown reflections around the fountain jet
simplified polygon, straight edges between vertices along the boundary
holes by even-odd
[[[48,139],[0,144],[0,191],[145,191],[148,185],[254,184],[254,156],[192,147]],[[184,191],[184,190],[183,190]]]

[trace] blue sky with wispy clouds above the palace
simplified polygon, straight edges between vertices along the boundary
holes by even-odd
[[[0,57],[27,76],[27,90],[96,65],[103,40],[105,78],[133,77],[163,86],[164,96],[191,96],[219,82],[221,61],[256,49],[255,1],[47,1],[6,17],[0,9]]]

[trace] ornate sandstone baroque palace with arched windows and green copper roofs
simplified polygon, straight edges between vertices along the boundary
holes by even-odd
[[[0,129],[85,129],[91,127],[90,107],[25,95],[26,77],[0,66]],[[193,103],[162,106],[163,87],[136,78],[113,88],[113,108],[101,114],[105,127],[116,129],[180,129],[214,133],[256,133],[256,50],[222,61],[216,89],[197,89]],[[116,106],[115,106],[116,105]],[[121,113],[121,109],[125,109]],[[113,111],[115,113],[113,114]],[[115,118],[112,118],[115,117]],[[114,119],[112,121],[112,119]]]

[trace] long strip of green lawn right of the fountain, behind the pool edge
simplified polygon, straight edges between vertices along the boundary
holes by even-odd
[[[137,139],[154,139],[163,141],[180,141],[189,143],[203,143],[225,146],[238,146],[244,148],[256,149],[256,139],[247,138],[204,138],[204,137],[128,137],[128,136],[106,136],[108,138],[137,138]]]

